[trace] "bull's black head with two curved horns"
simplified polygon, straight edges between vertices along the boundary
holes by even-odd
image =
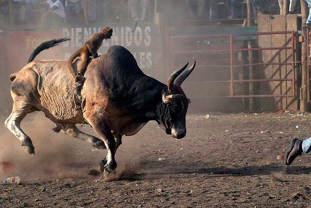
[[[176,139],[186,136],[186,113],[190,100],[187,99],[181,84],[191,74],[195,61],[189,69],[184,71],[187,66],[188,63],[169,76],[167,89],[162,93],[163,102],[158,105],[157,109],[158,124],[167,134],[171,134]]]

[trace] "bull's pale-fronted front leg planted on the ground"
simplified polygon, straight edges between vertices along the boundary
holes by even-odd
[[[105,157],[107,163],[104,166],[104,176],[108,177],[110,174],[115,174],[117,168],[117,162],[115,160],[116,141],[108,125],[107,116],[99,110],[95,110],[95,112],[86,110],[84,118],[94,128],[107,147]]]

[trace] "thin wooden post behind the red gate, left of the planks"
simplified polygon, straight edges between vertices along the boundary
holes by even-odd
[[[252,26],[252,4],[251,4],[251,0],[247,0],[247,26],[250,27]],[[252,48],[252,41],[248,40],[247,41],[247,47],[248,48]],[[248,51],[248,62],[249,64],[252,64],[254,62],[253,60],[253,51],[249,50]],[[249,66],[248,67],[248,73],[249,73],[249,80],[253,80],[254,79],[254,67],[253,66]],[[253,82],[249,82],[249,89],[248,89],[249,95],[253,95],[254,94],[254,83]],[[253,111],[254,110],[254,99],[253,98],[249,98],[248,101],[248,110]]]

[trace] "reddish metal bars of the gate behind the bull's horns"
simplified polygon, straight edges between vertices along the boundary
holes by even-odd
[[[251,37],[251,36],[272,36],[272,35],[280,35],[280,34],[288,34],[290,35],[290,42],[289,42],[289,46],[286,45],[287,43],[285,42],[285,46],[282,47],[255,47],[255,48],[239,48],[239,45],[237,44],[238,42],[241,42],[241,40],[237,40],[235,39],[236,37]],[[229,89],[229,93],[227,95],[219,95],[219,96],[209,96],[206,95],[205,98],[256,98],[256,97],[295,97],[297,95],[296,93],[296,69],[295,69],[295,64],[297,63],[294,60],[295,57],[295,37],[296,37],[296,33],[294,31],[280,31],[280,32],[262,32],[262,33],[245,33],[245,34],[219,34],[219,35],[198,35],[198,36],[171,36],[170,38],[170,49],[171,49],[171,54],[172,54],[172,59],[171,59],[171,66],[172,67],[177,67],[177,64],[175,64],[175,62],[177,62],[177,58],[180,56],[185,56],[185,55],[191,55],[193,57],[195,56],[204,56],[206,55],[206,57],[209,57],[211,54],[228,54],[230,55],[229,60],[227,61],[228,64],[226,64],[225,62],[222,62],[221,65],[215,65],[215,64],[200,64],[200,62],[204,62],[204,60],[197,60],[197,62],[200,64],[198,65],[198,67],[200,68],[204,68],[204,70],[210,68],[210,67],[218,67],[218,68],[229,68],[230,69],[230,79],[227,80],[211,80],[211,81],[204,81],[201,80],[199,82],[188,82],[191,84],[196,83],[197,85],[200,85],[200,83],[209,83],[209,84],[215,84],[215,83],[228,83],[230,85],[230,89]],[[199,50],[187,50],[185,48],[181,48],[179,42],[183,42],[183,40],[205,40],[205,42],[208,41],[212,41],[212,40],[223,40],[223,38],[225,39],[225,43],[227,43],[228,45],[226,46],[227,48],[225,49],[199,49]],[[246,38],[247,39],[247,38]],[[247,40],[246,40],[247,41]],[[275,60],[270,60],[271,62],[248,62],[248,63],[237,63],[239,62],[237,60],[237,56],[235,55],[236,53],[239,52],[254,52],[254,51],[272,51],[272,50],[277,50],[278,52],[283,51],[283,50],[289,50],[291,53],[291,57],[292,57],[292,61],[291,62],[275,62]],[[276,53],[278,53],[276,52]],[[274,62],[272,62],[274,61]],[[264,66],[264,65],[279,65],[280,68],[282,66],[291,66],[290,70],[292,70],[292,73],[290,74],[289,77],[284,77],[282,79],[236,79],[235,78],[235,70],[238,67],[247,67],[248,70],[249,67],[252,66]],[[255,69],[254,69],[255,70]],[[261,69],[258,69],[261,70]],[[280,69],[282,70],[282,69]],[[202,79],[204,79],[204,77],[202,77]],[[259,83],[259,82],[274,82],[274,83],[283,83],[283,82],[287,82],[290,83],[291,90],[288,91],[286,90],[285,94],[276,94],[273,93],[273,90],[270,93],[267,94],[238,94],[236,93],[236,85],[235,83]],[[187,82],[186,82],[187,83]],[[278,84],[276,84],[278,85]]]

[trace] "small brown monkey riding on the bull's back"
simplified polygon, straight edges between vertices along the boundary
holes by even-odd
[[[74,52],[72,56],[68,60],[68,68],[70,73],[72,74],[75,82],[79,82],[83,79],[84,73],[86,71],[86,66],[88,64],[88,59],[95,59],[98,54],[97,51],[101,46],[104,39],[110,39],[112,36],[113,29],[111,27],[104,27],[101,32],[94,33],[85,43],[84,45]],[[78,69],[78,73],[75,74],[72,62],[75,58],[81,58],[81,66]]]

